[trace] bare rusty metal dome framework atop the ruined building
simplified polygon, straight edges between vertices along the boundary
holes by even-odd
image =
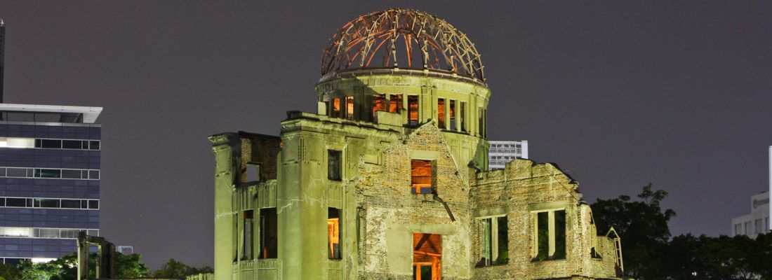
[[[419,57],[422,65],[415,65]],[[405,61],[407,67],[399,64]],[[361,15],[330,38],[322,76],[357,68],[422,69],[485,82],[479,52],[465,34],[442,18],[401,8]]]

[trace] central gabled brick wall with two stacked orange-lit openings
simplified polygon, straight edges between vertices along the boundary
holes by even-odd
[[[411,193],[411,158],[420,155],[435,157],[440,199]],[[385,148],[382,165],[360,168],[354,186],[363,223],[360,279],[411,279],[412,232],[442,235],[442,278],[469,279],[469,187],[457,166],[430,123]]]

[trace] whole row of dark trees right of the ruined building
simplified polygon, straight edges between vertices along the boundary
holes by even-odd
[[[627,195],[598,199],[591,205],[598,233],[613,226],[621,237],[625,276],[636,279],[772,279],[772,234],[756,239],[672,237],[672,209],[662,210],[668,193],[643,187],[637,200]]]

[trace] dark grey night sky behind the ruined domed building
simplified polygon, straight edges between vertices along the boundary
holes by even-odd
[[[772,2],[8,2],[5,102],[102,106],[102,235],[212,263],[207,135],[315,112],[340,25],[416,8],[476,43],[489,135],[527,139],[588,202],[670,193],[672,232],[730,233],[767,189]]]

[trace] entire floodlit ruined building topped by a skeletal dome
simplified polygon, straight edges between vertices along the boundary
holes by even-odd
[[[325,49],[317,112],[212,135],[215,279],[618,278],[577,182],[488,171],[479,53],[441,18],[361,15]]]

